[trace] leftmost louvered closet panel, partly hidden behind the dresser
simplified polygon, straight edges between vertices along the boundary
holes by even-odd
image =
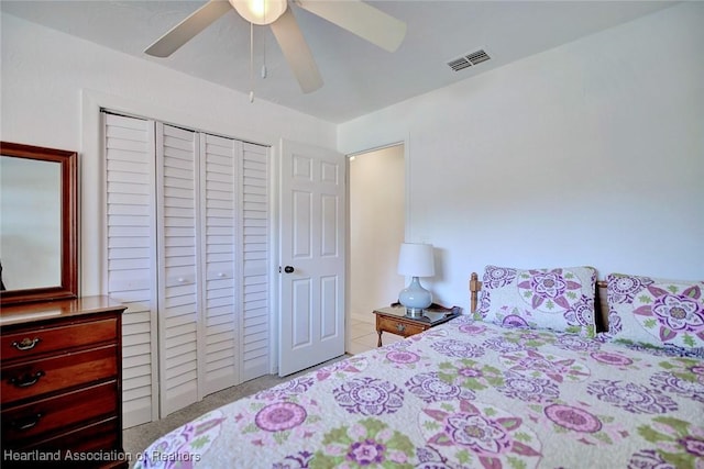
[[[122,410],[125,427],[158,418],[154,123],[103,113],[107,293],[124,303]]]

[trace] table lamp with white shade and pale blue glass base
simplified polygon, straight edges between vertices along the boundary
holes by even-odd
[[[432,304],[432,294],[422,288],[419,277],[436,273],[431,244],[403,243],[398,255],[398,273],[411,277],[408,287],[398,293],[398,302],[410,317],[421,317],[422,310]]]

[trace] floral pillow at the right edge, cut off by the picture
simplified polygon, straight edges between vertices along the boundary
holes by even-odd
[[[704,282],[610,273],[608,336],[654,347],[704,350]]]

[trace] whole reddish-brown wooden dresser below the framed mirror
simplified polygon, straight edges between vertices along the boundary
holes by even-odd
[[[128,466],[124,310],[107,297],[2,308],[2,467]]]

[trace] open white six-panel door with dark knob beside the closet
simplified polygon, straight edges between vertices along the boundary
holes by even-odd
[[[345,163],[282,142],[279,375],[344,354]]]

